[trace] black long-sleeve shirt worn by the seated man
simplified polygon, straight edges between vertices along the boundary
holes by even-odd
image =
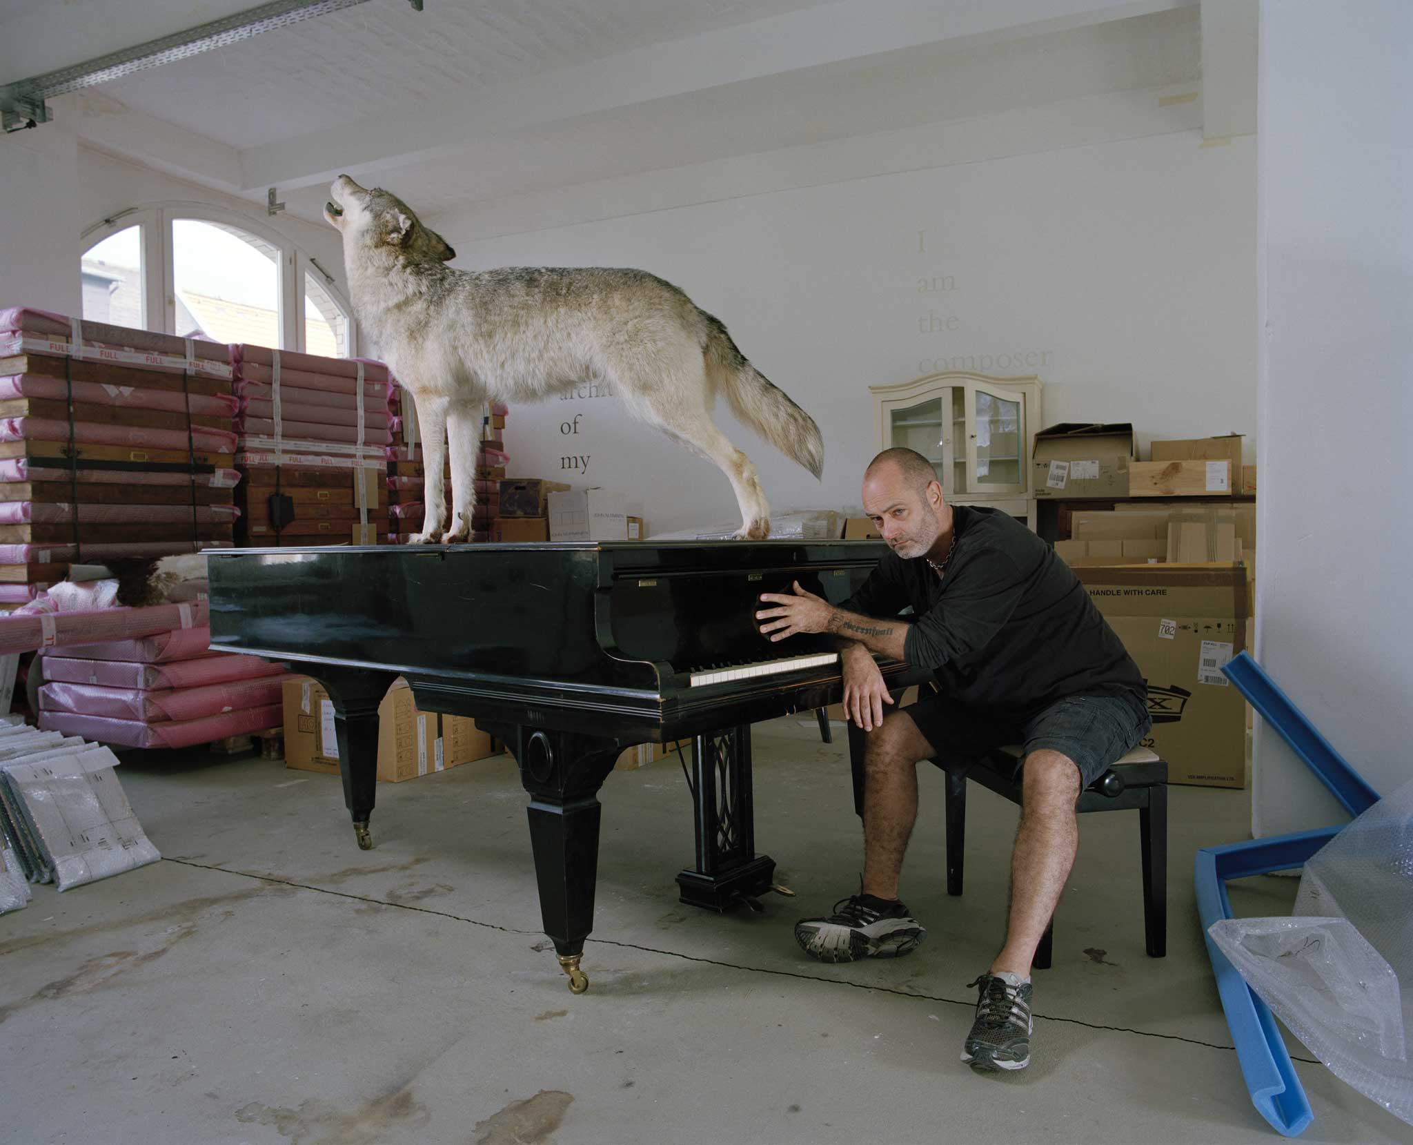
[[[841,605],[896,616],[911,605],[907,663],[966,707],[1029,715],[1067,695],[1146,697],[1133,657],[1054,550],[1009,513],[952,506],[957,547],[938,580],[889,553]]]

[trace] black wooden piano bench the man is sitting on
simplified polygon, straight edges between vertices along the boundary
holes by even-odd
[[[849,763],[853,772],[853,809],[863,816],[863,732],[849,725]],[[1019,746],[998,748],[982,758],[933,759],[947,773],[947,893],[962,893],[966,842],[966,780],[1020,806]],[[1143,937],[1153,958],[1167,954],[1167,763],[1147,748],[1135,748],[1080,793],[1075,811],[1137,811],[1139,852],[1143,867]],[[1048,970],[1054,920],[1036,949],[1034,965]]]

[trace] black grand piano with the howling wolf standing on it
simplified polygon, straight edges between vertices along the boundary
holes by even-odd
[[[377,705],[397,676],[425,711],[475,717],[520,765],[544,929],[569,988],[592,929],[599,786],[623,748],[692,738],[695,867],[684,902],[773,888],[755,852],[750,724],[839,698],[828,636],[771,643],[760,592],[834,604],[879,541],[236,548],[209,553],[211,646],[315,677],[333,705],[343,800],[372,847]],[[890,687],[904,664],[880,663]],[[916,673],[914,673],[916,674]]]

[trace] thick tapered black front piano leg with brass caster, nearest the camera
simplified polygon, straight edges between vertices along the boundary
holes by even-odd
[[[584,994],[589,980],[579,970],[579,960],[584,940],[593,929],[603,810],[596,794],[623,748],[616,741],[574,732],[482,727],[503,739],[520,763],[520,782],[530,793],[530,845],[544,933],[569,975],[569,990]]]

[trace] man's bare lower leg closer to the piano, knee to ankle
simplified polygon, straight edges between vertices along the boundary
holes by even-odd
[[[917,820],[917,763],[935,755],[906,711],[868,734],[863,755],[863,893],[897,898],[899,872]]]

